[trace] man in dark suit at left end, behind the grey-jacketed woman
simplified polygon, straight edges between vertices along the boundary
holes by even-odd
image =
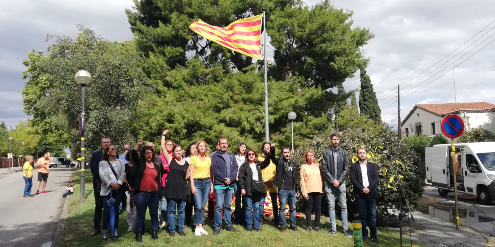
[[[103,205],[101,204],[101,198],[99,196],[100,188],[97,186],[97,182],[99,182],[99,162],[101,161],[101,156],[103,155],[103,149],[110,145],[111,140],[110,137],[101,137],[99,146],[100,150],[93,152],[90,160],[90,169],[93,174],[93,194],[95,195],[95,217],[93,219],[94,227],[93,232],[90,234],[91,237],[94,237],[100,233],[100,222],[101,216],[103,214]],[[84,161],[82,161],[84,162]],[[101,182],[99,183],[101,184]]]

